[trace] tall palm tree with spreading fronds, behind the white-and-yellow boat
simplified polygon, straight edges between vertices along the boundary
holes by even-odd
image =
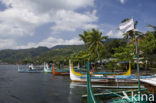
[[[102,32],[92,29],[91,31],[84,31],[83,34],[79,34],[80,40],[83,40],[84,44],[87,46],[90,59],[94,61],[98,58],[101,61],[101,49],[104,47],[103,41],[107,39],[107,36],[102,36]]]

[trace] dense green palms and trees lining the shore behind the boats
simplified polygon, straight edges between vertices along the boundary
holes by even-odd
[[[125,22],[129,18],[122,21]],[[93,63],[102,60],[106,60],[105,67],[117,69],[119,63],[131,62],[135,67],[136,64],[136,50],[140,53],[140,65],[142,68],[156,67],[156,26],[148,25],[153,28],[154,31],[147,31],[142,33],[136,30],[138,21],[134,22],[133,30],[129,30],[123,34],[124,38],[121,40],[114,40],[110,43],[104,43],[108,37],[102,36],[102,33],[98,30],[92,29],[91,31],[84,31],[83,34],[79,34],[81,40],[87,47],[86,51],[80,51],[71,56],[73,61],[83,63],[84,60],[90,60]],[[136,44],[139,44],[136,46]],[[136,49],[136,47],[138,49]],[[109,60],[111,58],[111,60]],[[101,65],[103,66],[103,65]],[[96,67],[96,66],[95,66]]]

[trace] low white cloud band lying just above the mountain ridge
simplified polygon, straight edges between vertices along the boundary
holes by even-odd
[[[26,49],[37,48],[39,46],[53,47],[56,45],[79,45],[83,44],[79,38],[73,38],[70,40],[64,40],[61,38],[49,37],[40,42],[29,42],[26,45],[17,44],[13,39],[0,39],[0,49]]]

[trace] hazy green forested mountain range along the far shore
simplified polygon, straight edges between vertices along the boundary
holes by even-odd
[[[115,42],[116,41],[116,42]],[[105,42],[108,54],[111,55],[112,48],[118,45],[120,39],[108,39]],[[108,44],[108,45],[107,45]],[[66,61],[70,55],[86,50],[84,45],[56,45],[52,48],[38,47],[18,50],[0,50],[0,63],[43,63],[49,61]],[[108,56],[109,56],[108,55]]]

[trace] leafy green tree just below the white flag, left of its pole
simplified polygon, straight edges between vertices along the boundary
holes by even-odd
[[[121,23],[126,22],[130,18],[126,18],[121,21]],[[135,21],[134,23],[134,29],[136,29],[136,26],[138,24],[138,21]],[[142,37],[142,33],[140,31],[136,30],[129,30],[126,33],[123,34],[125,40],[127,40],[125,47],[119,47],[115,49],[115,54],[113,57],[116,57],[118,61],[130,61],[132,62],[135,54],[136,54],[136,41],[137,38]],[[138,56],[138,55],[137,55]]]

